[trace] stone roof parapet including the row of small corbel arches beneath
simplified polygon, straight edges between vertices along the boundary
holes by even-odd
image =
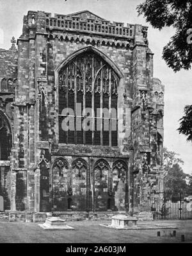
[[[29,11],[24,16],[20,39],[33,38],[36,33],[47,33],[50,39],[129,48],[130,44],[134,45],[135,37],[138,37],[137,27],[137,24],[111,23],[89,11],[69,15],[55,14],[54,17],[47,12]],[[148,43],[147,29],[148,27],[141,26],[139,31],[144,44]]]

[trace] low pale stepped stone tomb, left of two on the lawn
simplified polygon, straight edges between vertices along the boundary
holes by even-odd
[[[48,217],[44,224],[38,224],[44,230],[74,230],[68,226],[63,219],[58,217]]]

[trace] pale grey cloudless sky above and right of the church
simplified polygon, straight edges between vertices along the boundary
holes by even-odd
[[[150,49],[154,52],[154,77],[165,85],[164,95],[164,146],[180,154],[184,161],[183,169],[192,173],[192,143],[179,134],[179,119],[184,106],[192,104],[192,72],[174,73],[161,58],[163,46],[174,34],[173,28],[154,30],[143,17],[138,17],[136,6],[143,0],[0,0],[0,48],[8,49],[14,35],[17,39],[22,33],[22,19],[28,10],[43,10],[57,14],[70,14],[90,10],[109,21],[147,25]]]

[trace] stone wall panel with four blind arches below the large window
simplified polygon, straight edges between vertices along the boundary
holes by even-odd
[[[126,160],[81,156],[54,159],[51,174],[54,211],[126,210]]]

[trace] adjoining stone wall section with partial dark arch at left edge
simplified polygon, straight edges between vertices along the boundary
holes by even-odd
[[[13,143],[13,98],[17,87],[17,59],[15,39],[9,50],[0,49],[0,196],[3,196],[4,210],[11,209],[10,157]],[[3,132],[4,131],[4,132]]]

